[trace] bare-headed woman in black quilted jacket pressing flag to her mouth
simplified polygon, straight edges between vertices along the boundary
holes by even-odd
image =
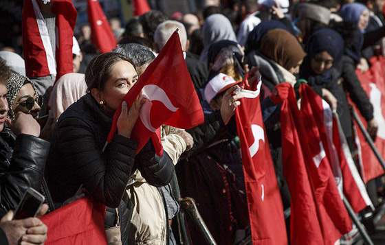
[[[127,244],[131,203],[126,196],[129,177],[140,170],[146,181],[157,187],[167,185],[174,171],[170,157],[155,154],[149,141],[135,156],[137,142],[131,138],[133,126],[144,103],[140,95],[130,108],[124,95],[137,81],[129,58],[117,53],[96,56],[87,67],[87,95],[61,115],[52,135],[47,161],[47,183],[56,202],[73,196],[80,186],[107,205],[105,226],[115,225],[118,208],[122,244]],[[122,103],[118,133],[106,144],[115,110]]]

